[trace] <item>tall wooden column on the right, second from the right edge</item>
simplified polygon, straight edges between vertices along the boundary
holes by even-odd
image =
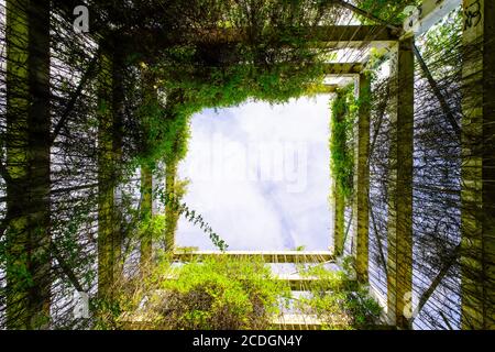
[[[413,38],[398,43],[392,61],[391,174],[388,179],[387,315],[408,328],[413,290]]]

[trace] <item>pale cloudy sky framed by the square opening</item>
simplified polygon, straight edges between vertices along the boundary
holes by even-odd
[[[328,249],[329,99],[248,101],[193,117],[189,151],[179,165],[179,177],[189,180],[184,201],[229,250]],[[176,241],[215,249],[185,219]]]

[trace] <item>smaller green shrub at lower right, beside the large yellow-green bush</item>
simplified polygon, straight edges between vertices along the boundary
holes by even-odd
[[[300,274],[317,280],[310,286],[310,296],[301,298],[297,307],[317,315],[323,329],[366,329],[377,323],[382,308],[367,288],[352,280],[344,271],[314,266]]]

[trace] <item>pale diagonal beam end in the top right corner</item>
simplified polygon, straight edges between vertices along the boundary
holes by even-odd
[[[437,24],[449,12],[459,8],[462,0],[424,0],[404,21],[406,35],[420,35]]]

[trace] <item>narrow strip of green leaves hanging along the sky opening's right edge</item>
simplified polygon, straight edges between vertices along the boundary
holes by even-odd
[[[338,191],[350,199],[354,177],[354,122],[359,110],[353,86],[337,91],[331,105],[330,120],[330,170],[336,179]]]

